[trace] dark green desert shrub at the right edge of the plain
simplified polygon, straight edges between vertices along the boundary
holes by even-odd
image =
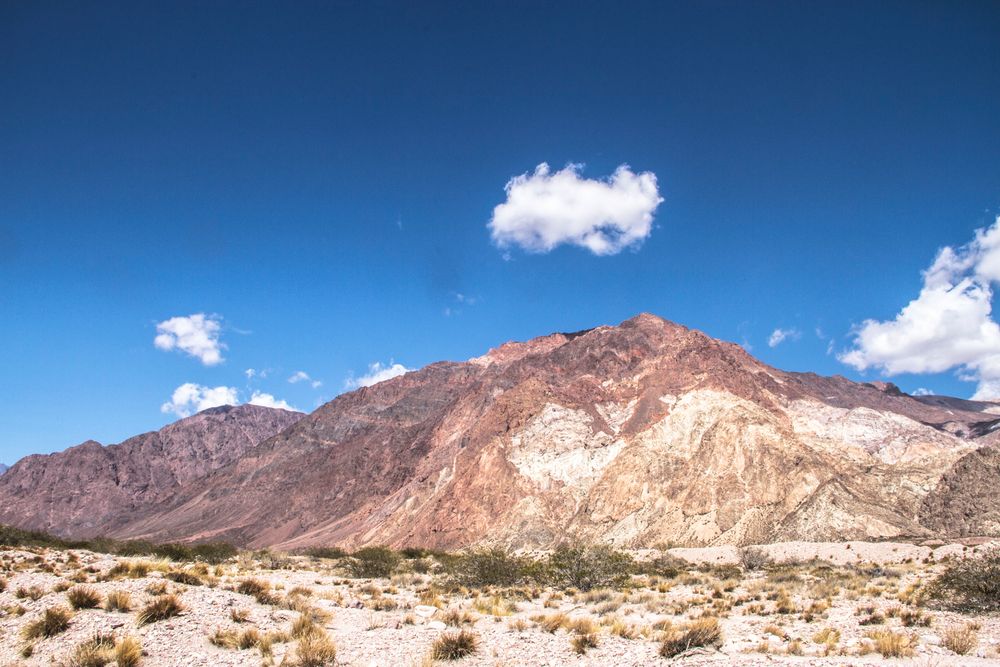
[[[927,595],[934,604],[962,613],[1000,611],[1000,548],[949,564]]]

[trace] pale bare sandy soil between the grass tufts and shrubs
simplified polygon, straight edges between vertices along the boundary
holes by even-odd
[[[5,590],[0,592],[0,665],[72,664],[76,647],[97,632],[138,638],[144,652],[142,664],[151,667],[291,665],[296,664],[297,642],[293,638],[275,642],[271,655],[263,655],[259,648],[215,646],[210,637],[217,629],[241,631],[250,627],[261,634],[287,634],[306,607],[326,612],[319,614],[320,623],[336,643],[337,664],[342,665],[434,664],[429,658],[431,646],[442,633],[454,630],[446,628],[446,623],[458,622],[458,614],[449,614],[456,611],[467,614],[469,622],[462,627],[478,638],[478,651],[456,661],[457,665],[1000,665],[1000,618],[972,618],[908,604],[913,601],[913,586],[930,580],[943,567],[939,561],[984,547],[796,542],[762,548],[777,561],[818,558],[866,566],[838,567],[834,574],[818,575],[809,565],[734,574],[732,567],[699,569],[694,565],[735,563],[735,549],[672,549],[672,555],[692,564],[692,569],[678,577],[638,577],[625,590],[589,594],[550,589],[524,591],[524,595],[507,591],[497,604],[475,591],[444,592],[438,575],[350,579],[333,561],[316,559],[294,558],[287,563],[293,569],[272,570],[243,558],[210,568],[204,576],[207,585],[188,585],[165,578],[171,571],[193,571],[185,564],[154,562],[153,570],[145,576],[105,580],[116,563],[136,559],[84,551],[0,550],[0,579],[6,581]],[[884,567],[872,569],[867,567],[870,564]],[[64,632],[26,640],[22,635],[25,626],[45,609],[67,606],[65,588],[74,583],[71,578],[85,580],[83,585],[98,591],[102,598],[112,591],[128,591],[133,611],[78,610]],[[261,604],[250,595],[231,590],[247,578],[269,582],[275,603]],[[136,611],[157,598],[155,586],[164,584],[185,610],[140,627]],[[26,596],[32,587],[39,589],[38,599]],[[296,587],[301,587],[301,594],[290,595]],[[294,603],[289,604],[290,600]],[[779,611],[783,600],[791,611]],[[297,609],[286,608],[289,606]],[[231,610],[245,611],[245,620],[232,620]],[[905,625],[905,611],[926,619],[928,625],[923,621]],[[570,620],[589,618],[598,624],[597,646],[578,655],[571,647],[571,630],[547,632],[540,627],[542,616],[558,613]],[[719,618],[721,646],[694,649],[673,660],[659,657],[664,622],[679,625],[706,614]],[[872,617],[882,621],[863,624]],[[635,638],[614,634],[615,619],[618,629],[631,627]],[[944,636],[949,629],[969,624],[975,628],[975,647],[967,655],[957,655],[945,647]],[[874,648],[866,634],[878,630],[905,637],[911,655],[886,659],[869,652]],[[824,644],[817,639],[821,631],[839,636]],[[29,644],[32,653],[24,657]]]

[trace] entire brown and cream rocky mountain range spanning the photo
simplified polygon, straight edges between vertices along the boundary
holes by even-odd
[[[642,314],[309,415],[214,408],[29,456],[0,523],[297,548],[1000,534],[1000,403],[792,373]]]

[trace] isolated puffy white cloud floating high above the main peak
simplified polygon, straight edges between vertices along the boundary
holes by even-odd
[[[545,253],[567,243],[595,255],[638,246],[652,229],[660,205],[656,175],[622,165],[607,180],[581,178],[582,165],[552,173],[544,162],[507,182],[507,201],[493,209],[493,242]]]

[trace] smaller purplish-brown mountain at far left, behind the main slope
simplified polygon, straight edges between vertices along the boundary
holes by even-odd
[[[73,537],[115,533],[303,416],[223,406],[118,445],[88,440],[27,456],[0,476],[0,523]]]

